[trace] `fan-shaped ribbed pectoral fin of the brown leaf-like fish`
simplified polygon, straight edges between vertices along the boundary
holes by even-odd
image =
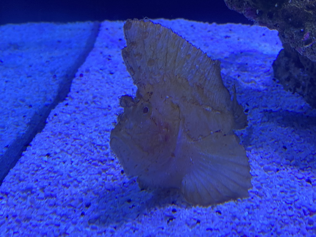
[[[208,206],[248,197],[252,188],[250,166],[244,149],[235,139],[235,135],[221,137],[222,143],[234,143],[226,149],[213,154],[208,149],[201,151],[198,157],[192,158],[188,173],[182,179],[180,190],[191,204]],[[214,143],[213,143],[214,144]]]

